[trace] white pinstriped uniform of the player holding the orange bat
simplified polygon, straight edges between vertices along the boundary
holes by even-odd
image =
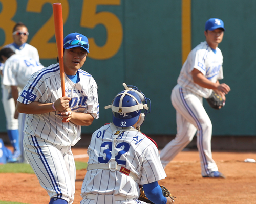
[[[65,74],[66,95],[72,99],[73,112],[89,113],[98,118],[97,84],[93,77],[79,69],[80,81],[73,83]],[[20,94],[18,101],[52,103],[61,94],[59,64],[34,73]],[[72,203],[75,194],[75,162],[71,146],[80,140],[81,126],[72,122],[62,123],[57,112],[27,114],[24,148],[27,159],[38,180],[50,196]]]

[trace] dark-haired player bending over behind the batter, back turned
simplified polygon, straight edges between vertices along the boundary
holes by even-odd
[[[41,63],[37,62],[33,58],[15,54],[15,52],[11,48],[1,49],[0,56],[1,58],[4,58],[3,85],[6,87],[10,87],[12,98],[14,99],[16,107],[19,91],[25,87],[31,75],[34,72],[44,68],[44,66],[42,66]],[[25,162],[23,149],[23,128],[25,122],[25,114],[18,114],[16,110],[14,118],[18,118],[19,121],[19,149],[21,152],[21,157],[19,158],[18,162]],[[12,158],[11,160],[13,161],[14,158]]]

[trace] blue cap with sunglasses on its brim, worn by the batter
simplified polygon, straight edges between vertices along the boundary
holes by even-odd
[[[89,53],[89,43],[86,36],[80,33],[70,33],[64,38],[64,49],[82,47]]]

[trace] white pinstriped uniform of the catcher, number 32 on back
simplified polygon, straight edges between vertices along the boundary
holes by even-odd
[[[121,131],[125,130],[117,128]],[[115,135],[110,124],[106,124],[93,133],[88,147],[89,167],[94,164],[103,164],[108,167],[111,157],[114,157],[117,164],[125,169],[88,170],[82,184],[81,204],[140,203],[137,200],[140,195],[139,184],[152,183],[166,177],[156,145],[144,134],[134,130],[126,130],[120,135]],[[112,149],[114,136],[118,136],[114,140],[115,153]],[[136,174],[135,179],[121,171],[133,172]],[[91,196],[95,196],[94,200]]]

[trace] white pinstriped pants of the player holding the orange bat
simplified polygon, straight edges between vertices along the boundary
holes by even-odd
[[[57,197],[73,203],[76,168],[71,146],[55,145],[25,133],[24,149],[29,164],[50,199]]]

